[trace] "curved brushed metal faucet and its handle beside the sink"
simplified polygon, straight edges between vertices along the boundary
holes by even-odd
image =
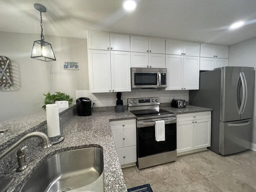
[[[0,160],[5,159],[11,152],[13,152],[14,150],[16,150],[20,144],[22,144],[22,142],[28,140],[29,138],[32,137],[39,137],[42,139],[43,141],[43,148],[46,149],[50,146],[52,146],[48,136],[42,132],[32,132],[32,133],[28,133],[26,134],[24,137],[22,137],[20,140],[18,140],[16,143],[14,143],[8,150],[6,150],[4,153],[2,153],[0,155]],[[26,169],[28,167],[28,165],[26,164],[26,160],[25,160],[25,150],[26,147],[21,148],[20,150],[18,150],[17,152],[17,156],[18,156],[18,168],[17,171],[22,171],[24,169]]]

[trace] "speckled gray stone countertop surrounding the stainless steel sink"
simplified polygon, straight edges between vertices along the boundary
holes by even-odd
[[[136,116],[127,110],[123,113],[96,112],[87,117],[73,116],[64,124],[64,141],[47,149],[42,149],[42,146],[36,148],[34,153],[27,157],[28,168],[22,172],[14,170],[11,174],[15,181],[7,192],[17,192],[49,156],[88,147],[103,149],[105,192],[127,192],[109,121],[135,118]]]

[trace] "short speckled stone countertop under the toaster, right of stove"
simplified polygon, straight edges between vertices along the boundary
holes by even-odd
[[[212,109],[209,109],[209,108],[198,107],[198,106],[193,106],[193,105],[187,105],[185,108],[162,107],[161,109],[164,109],[166,111],[176,113],[176,114],[212,111]]]

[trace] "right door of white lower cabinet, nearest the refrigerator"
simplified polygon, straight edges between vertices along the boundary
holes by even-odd
[[[194,120],[194,149],[209,147],[211,144],[211,119]]]

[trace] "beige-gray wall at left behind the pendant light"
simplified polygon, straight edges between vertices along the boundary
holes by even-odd
[[[0,122],[29,114],[44,104],[43,93],[65,92],[76,98],[76,90],[89,90],[87,41],[80,38],[44,36],[52,44],[56,61],[31,59],[38,34],[0,32],[0,55],[12,62],[14,85],[0,88]],[[64,70],[64,62],[78,62],[79,70]]]

